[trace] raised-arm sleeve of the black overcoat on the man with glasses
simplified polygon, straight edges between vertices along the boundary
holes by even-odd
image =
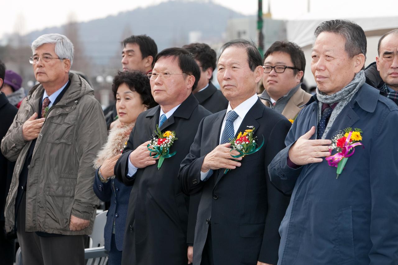
[[[135,134],[135,128],[134,126],[133,130],[130,133],[129,140],[127,141],[127,146],[123,150],[123,154],[119,157],[115,164],[115,168],[113,169],[113,173],[115,174],[115,177],[122,183],[124,183],[126,186],[131,186],[134,184],[135,181],[135,175],[129,177],[127,174],[129,173],[129,156],[131,152],[133,152],[133,138]]]

